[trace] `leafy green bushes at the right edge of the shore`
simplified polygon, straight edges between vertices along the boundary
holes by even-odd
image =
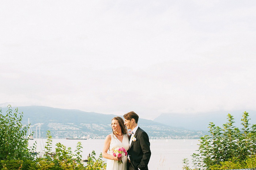
[[[192,155],[193,167],[196,170],[256,167],[256,125],[250,127],[249,120],[249,113],[244,112],[241,130],[234,126],[230,114],[222,128],[210,123],[210,135],[201,138],[197,153]]]

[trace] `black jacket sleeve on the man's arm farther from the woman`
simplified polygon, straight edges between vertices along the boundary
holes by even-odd
[[[143,170],[148,165],[151,156],[150,143],[146,132],[142,132],[140,135],[140,146],[142,148],[143,156],[140,164],[138,165],[138,168]]]

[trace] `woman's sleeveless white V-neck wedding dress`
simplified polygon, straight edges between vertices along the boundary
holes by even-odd
[[[109,145],[109,154],[113,154],[113,150],[118,147],[125,148],[126,151],[129,149],[129,139],[127,134],[124,135],[123,141],[117,139],[114,134],[110,134],[111,142]],[[108,159],[106,170],[127,170],[127,156],[122,158],[123,163],[117,163],[116,160]]]

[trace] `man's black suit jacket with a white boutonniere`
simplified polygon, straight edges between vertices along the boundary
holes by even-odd
[[[137,170],[138,168],[140,170],[148,170],[147,165],[151,156],[148,135],[145,131],[138,127],[134,137],[136,138],[136,141],[132,141],[128,150],[128,155],[131,160],[131,165],[128,164],[128,166],[132,166],[128,167],[128,170]]]

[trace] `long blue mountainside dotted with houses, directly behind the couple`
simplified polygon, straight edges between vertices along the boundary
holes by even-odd
[[[12,110],[15,111],[15,108],[12,107]],[[7,109],[2,108],[2,112],[5,113]],[[39,128],[40,123],[42,136],[45,137],[46,131],[49,130],[53,138],[83,136],[94,139],[105,138],[112,132],[110,124],[112,118],[116,116],[44,106],[18,107],[18,109],[19,113],[23,112],[23,124],[27,124],[30,119],[32,131],[35,132],[35,128]],[[185,130],[147,119],[139,118],[138,123],[148,132],[151,139],[194,139],[204,135],[201,131]]]

